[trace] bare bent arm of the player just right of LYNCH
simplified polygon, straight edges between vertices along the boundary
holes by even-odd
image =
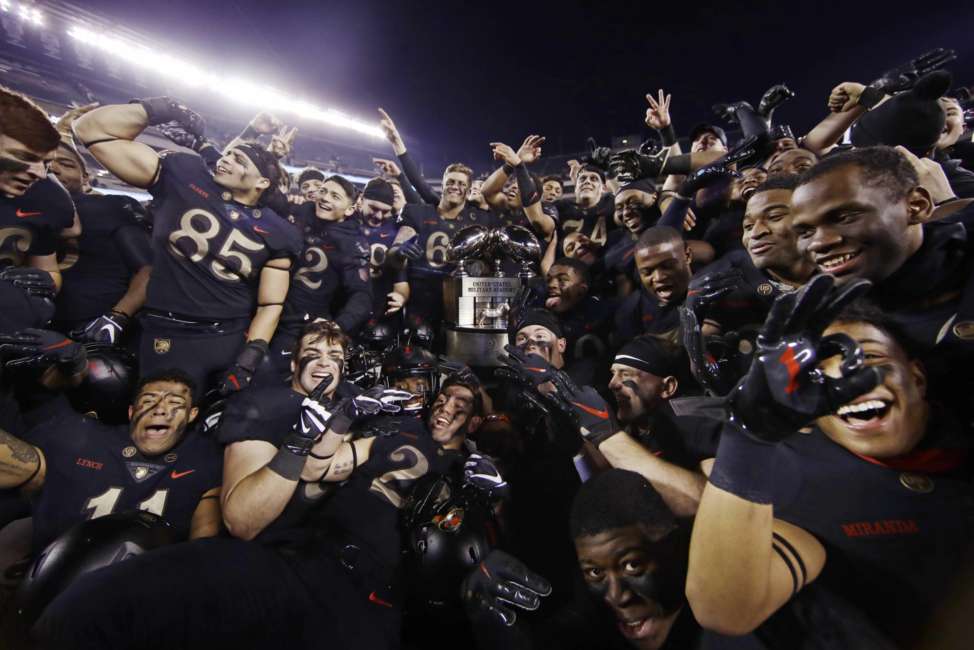
[[[234,537],[251,540],[277,519],[298,485],[267,468],[277,448],[243,440],[223,452],[223,523]]]

